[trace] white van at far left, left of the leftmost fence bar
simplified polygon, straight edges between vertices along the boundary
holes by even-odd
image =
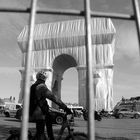
[[[4,115],[6,117],[15,117],[17,110],[20,108],[21,104],[7,102],[4,107]]]

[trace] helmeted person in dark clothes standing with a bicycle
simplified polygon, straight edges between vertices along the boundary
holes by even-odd
[[[35,140],[47,140],[45,125],[49,140],[54,140],[49,105],[46,99],[53,101],[64,109],[66,113],[71,114],[71,110],[47,88],[45,84],[47,77],[48,75],[45,71],[39,71],[36,74],[36,82],[30,88],[29,118],[36,123]]]

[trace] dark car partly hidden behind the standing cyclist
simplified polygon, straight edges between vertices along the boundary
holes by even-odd
[[[16,112],[16,119],[22,120],[22,110],[23,108],[20,108]],[[62,124],[65,120],[65,112],[59,111],[57,109],[54,109],[52,107],[49,108],[49,112],[52,116],[52,123],[53,124]]]

